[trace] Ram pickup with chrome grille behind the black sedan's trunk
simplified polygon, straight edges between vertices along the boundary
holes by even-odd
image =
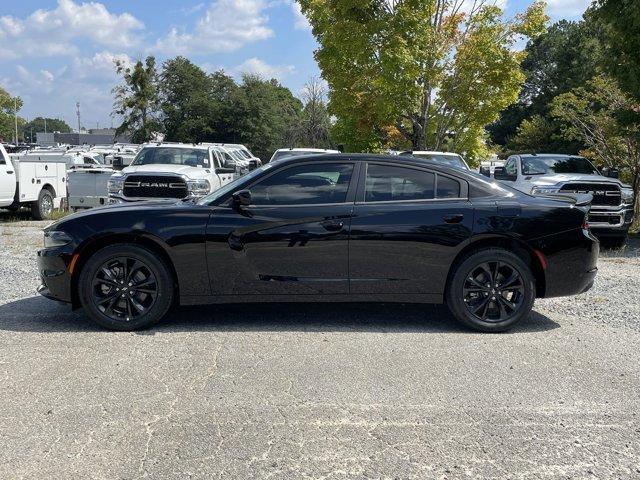
[[[510,156],[494,170],[496,180],[531,195],[590,193],[589,227],[601,240],[622,246],[633,220],[633,189],[617,172],[601,175],[584,157],[561,154]]]

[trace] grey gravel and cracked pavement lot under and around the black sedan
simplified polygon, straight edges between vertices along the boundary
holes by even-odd
[[[36,296],[0,213],[0,478],[638,478],[640,241],[507,334],[444,308],[180,309],[100,330]]]

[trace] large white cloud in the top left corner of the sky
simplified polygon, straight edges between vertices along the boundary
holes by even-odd
[[[101,3],[58,0],[53,10],[36,10],[24,19],[0,17],[0,58],[73,55],[74,41],[86,39],[98,45],[129,48],[139,41],[136,31],[144,28],[134,16],[110,13]]]

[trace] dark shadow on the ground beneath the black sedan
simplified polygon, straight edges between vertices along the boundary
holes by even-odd
[[[559,328],[533,311],[511,333]],[[0,305],[0,330],[14,332],[105,332],[82,312],[42,297]],[[180,307],[140,335],[167,332],[391,332],[475,334],[442,305],[375,303],[267,303]]]

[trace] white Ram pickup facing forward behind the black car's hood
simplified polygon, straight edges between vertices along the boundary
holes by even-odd
[[[201,197],[231,182],[236,169],[213,144],[149,143],[108,183],[109,203]]]

